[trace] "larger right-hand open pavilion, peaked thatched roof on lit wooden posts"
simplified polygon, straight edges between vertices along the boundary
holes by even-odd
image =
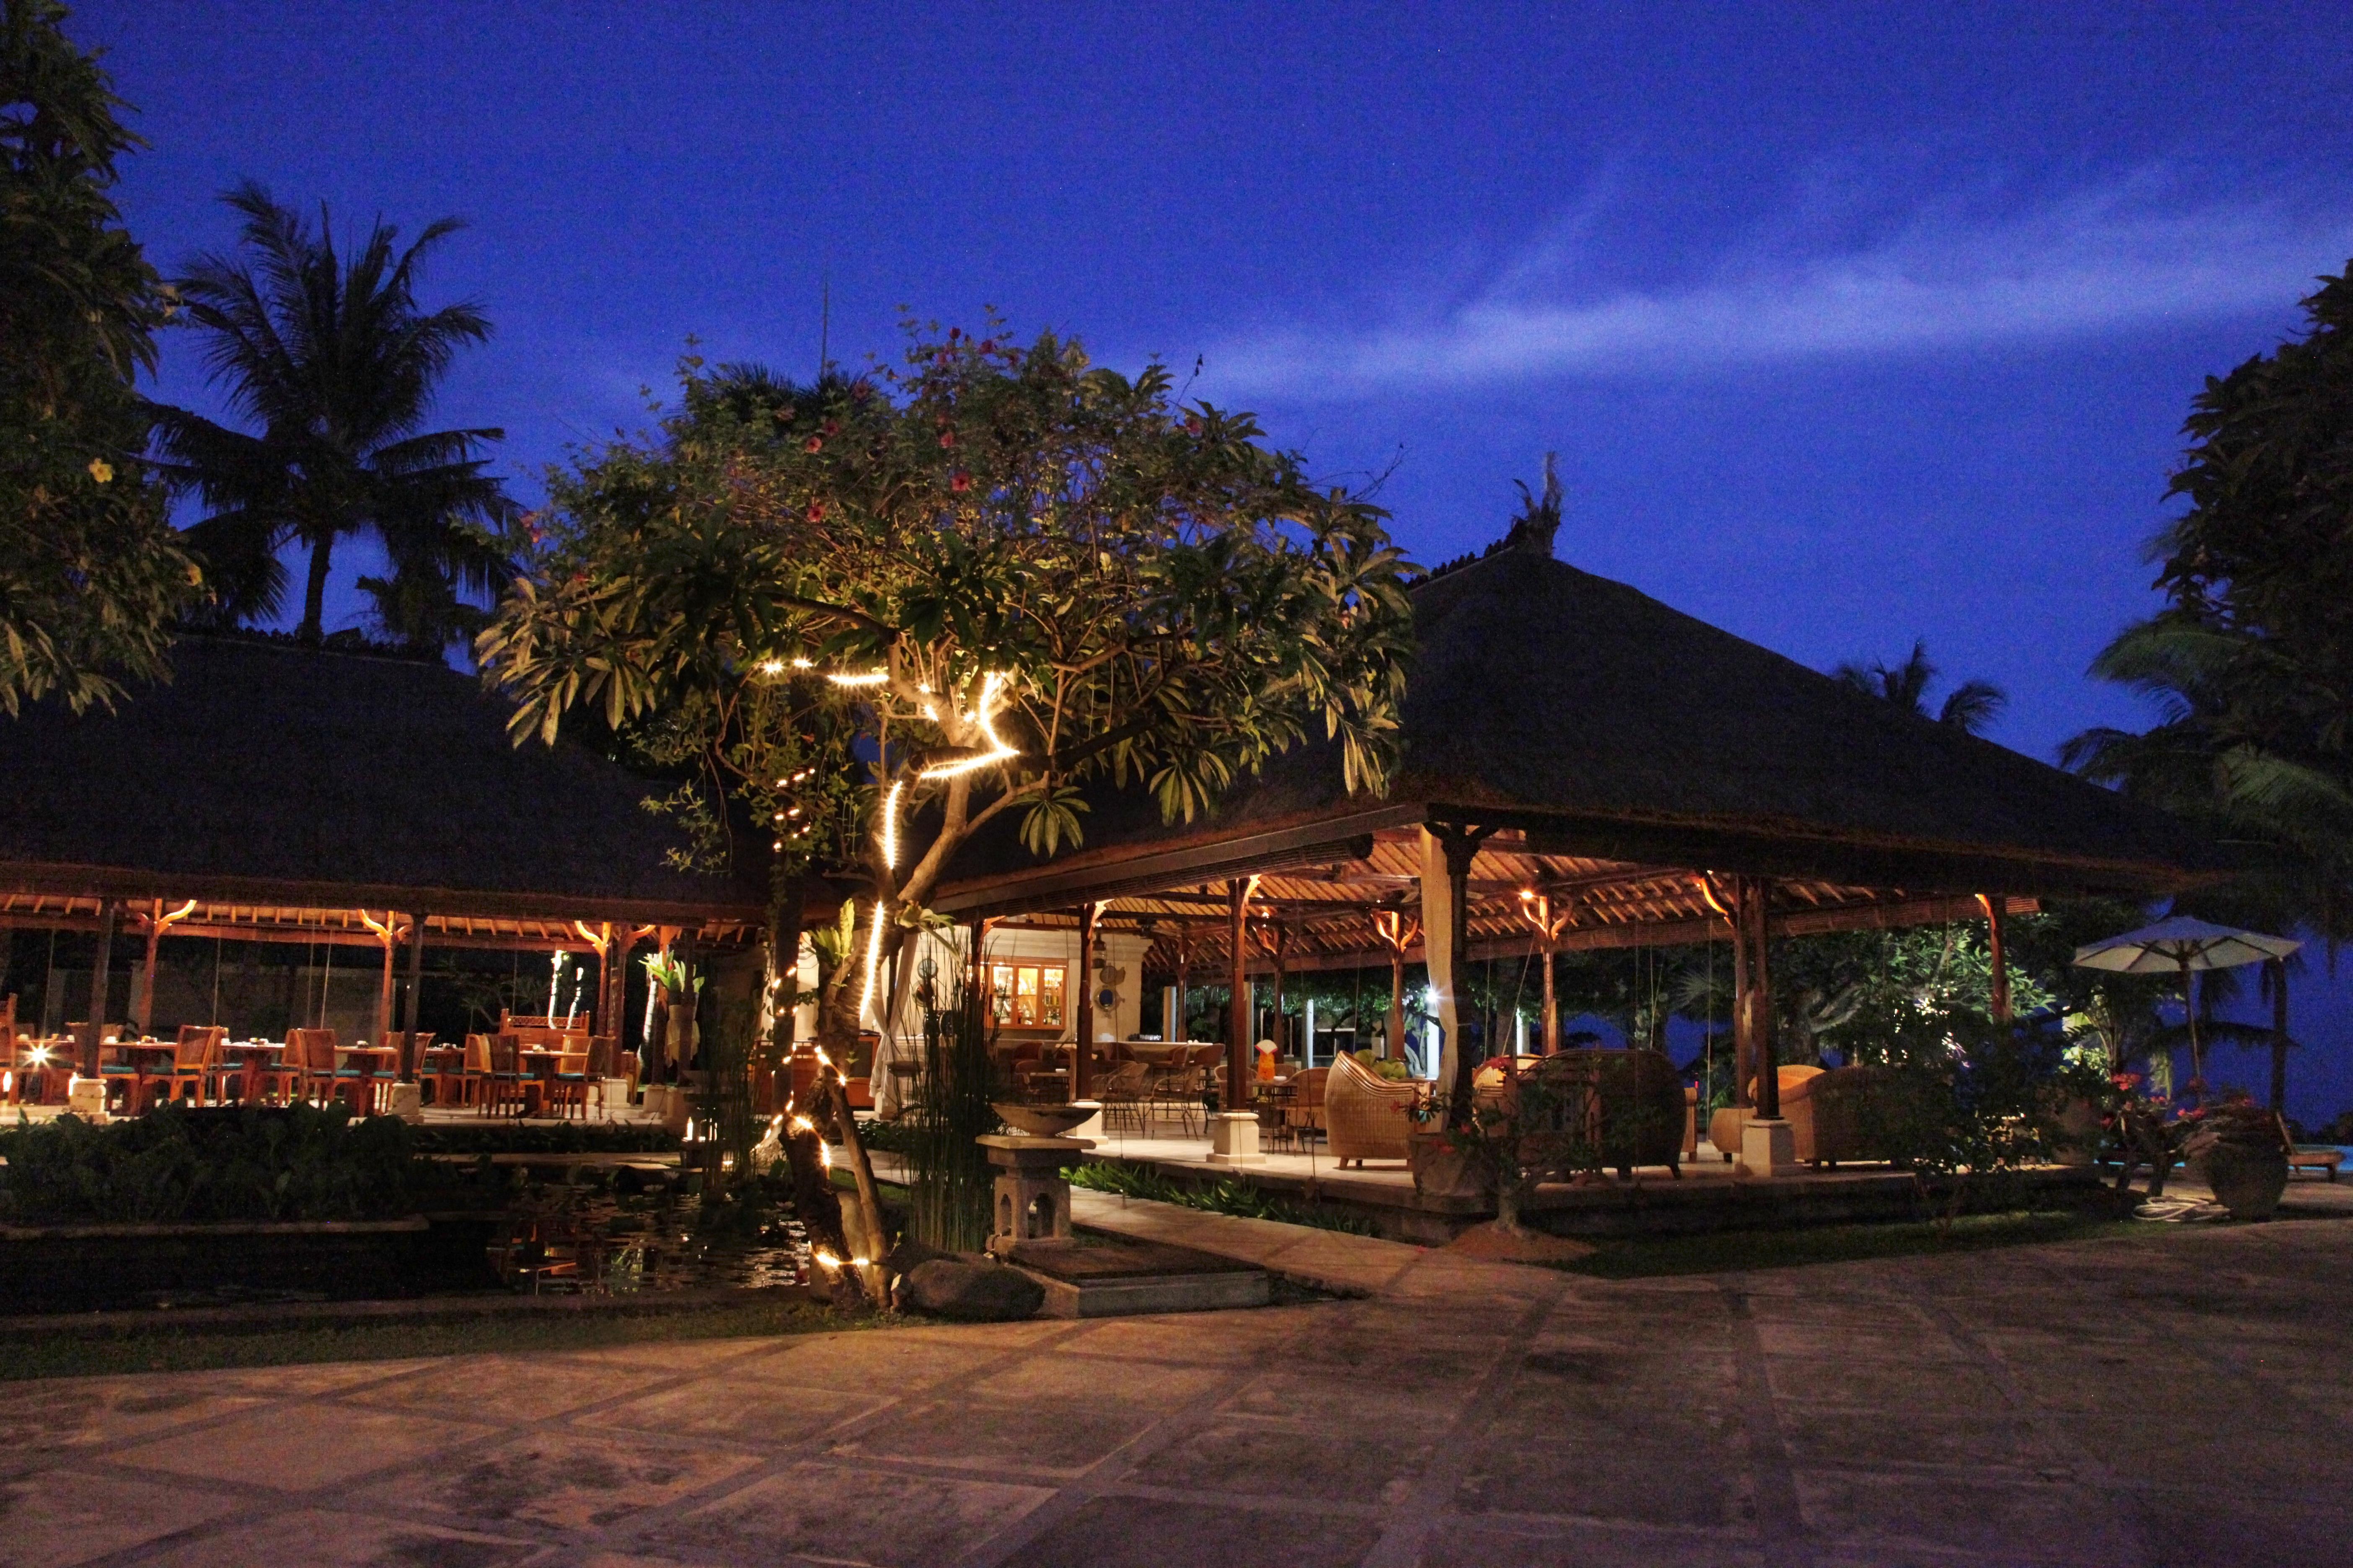
[[[1725,938],[1734,1081],[1767,1138],[1748,1164],[1779,1168],[1772,938],[1981,917],[2005,1011],[2005,914],[2224,872],[2172,818],[1555,562],[1548,536],[1515,529],[1412,602],[1386,797],[1348,795],[1337,748],[1304,745],[1207,820],[1162,823],[1129,792],[1047,863],[1000,835],[936,907],[1075,926],[1080,973],[1096,931],[1146,929],[1160,973],[1231,976],[1228,1081],[1249,1070],[1249,978],[1278,957],[1426,964],[1452,1084],[1471,961]],[[1087,1051],[1075,1072],[1085,1093]],[[1212,1159],[1252,1159],[1252,1126],[1221,1119]]]

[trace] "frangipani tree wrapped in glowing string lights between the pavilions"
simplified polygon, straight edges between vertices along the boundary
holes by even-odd
[[[689,362],[661,440],[605,449],[536,522],[478,642],[518,741],[584,703],[616,729],[699,705],[706,778],[772,853],[868,886],[828,1032],[889,1011],[875,976],[1000,816],[1049,856],[1092,785],[1193,818],[1308,736],[1353,790],[1393,764],[1409,611],[1384,512],[1158,364],[958,329],[807,390]]]

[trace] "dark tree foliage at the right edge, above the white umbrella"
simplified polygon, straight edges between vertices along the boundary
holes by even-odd
[[[2240,849],[2200,893],[2217,919],[2353,931],[2353,280],[2322,277],[2308,331],[2209,376],[2158,536],[2165,611],[2094,675],[2155,701],[2146,733],[2092,729],[2071,766]]]

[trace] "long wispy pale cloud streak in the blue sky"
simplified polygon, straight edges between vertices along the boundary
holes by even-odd
[[[1875,237],[1807,244],[1805,221],[1671,287],[1581,289],[1577,242],[1548,237],[1466,296],[1374,324],[1278,324],[1209,355],[1252,393],[1360,397],[1428,386],[1694,374],[2089,336],[2278,313],[2353,254],[2353,216],[2278,202],[2167,202],[2160,181],[1986,214],[1920,207]],[[1824,223],[1828,228],[1831,223]],[[1847,226],[1840,226],[1847,228]],[[1849,230],[1852,233],[1852,230]]]

